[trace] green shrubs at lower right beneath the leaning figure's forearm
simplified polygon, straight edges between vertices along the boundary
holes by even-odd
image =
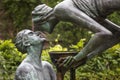
[[[120,44],[92,58],[86,65],[79,67],[76,76],[77,80],[119,80]]]

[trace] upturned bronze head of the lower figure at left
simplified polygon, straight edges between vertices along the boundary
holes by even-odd
[[[25,29],[20,31],[15,39],[15,45],[19,51],[26,53],[29,46],[43,45],[44,36],[38,32]]]

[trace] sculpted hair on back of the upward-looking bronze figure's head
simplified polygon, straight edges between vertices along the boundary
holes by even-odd
[[[26,30],[20,31],[15,38],[15,46],[23,53],[27,52],[27,46],[24,45],[24,41],[27,40],[27,36],[25,35]]]

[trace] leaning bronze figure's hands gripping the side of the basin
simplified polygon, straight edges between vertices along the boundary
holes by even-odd
[[[81,65],[84,65],[86,63],[87,57],[83,58],[80,61],[76,61],[73,56],[68,56],[66,58],[60,58],[57,61],[57,65],[59,69],[62,71],[62,73],[65,73],[70,68],[77,68]]]

